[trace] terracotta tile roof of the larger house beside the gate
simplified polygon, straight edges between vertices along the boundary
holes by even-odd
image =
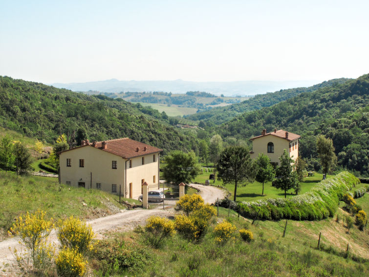
[[[106,142],[106,149],[103,149],[102,147],[103,141],[97,141],[95,143],[95,146],[93,146],[93,143],[90,142],[80,147],[92,146],[100,150],[121,156],[126,159],[144,156],[144,155],[153,154],[153,153],[159,153],[163,151],[160,148],[156,148],[149,144],[145,144],[145,143],[142,143],[142,142],[130,139],[130,138],[110,139],[110,140],[105,140],[105,142]],[[80,148],[80,147],[76,147],[76,148]],[[76,148],[71,148],[65,151],[70,151]],[[138,152],[137,152],[137,148],[138,148]],[[62,152],[65,152],[65,151],[62,151]],[[62,152],[59,152],[59,153],[62,153]]]

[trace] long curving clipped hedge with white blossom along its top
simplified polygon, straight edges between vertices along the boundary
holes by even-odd
[[[360,181],[347,171],[323,180],[310,191],[291,198],[270,198],[254,202],[233,202],[223,200],[219,206],[229,207],[242,216],[261,220],[320,220],[333,217],[338,203],[345,192],[359,184]]]

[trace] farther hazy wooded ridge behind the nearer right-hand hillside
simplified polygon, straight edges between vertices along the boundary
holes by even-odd
[[[347,80],[350,79],[333,79],[307,88],[295,88],[280,90],[278,92],[268,92],[266,94],[258,94],[255,97],[245,100],[241,103],[226,107],[217,107],[209,111],[188,115],[186,118],[191,120],[202,120],[208,126],[219,125],[242,113],[260,110],[264,107],[270,107],[274,104],[290,99],[302,92],[313,92],[319,88],[337,86],[345,83]]]

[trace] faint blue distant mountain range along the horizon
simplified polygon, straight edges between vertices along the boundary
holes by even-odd
[[[255,95],[275,92],[281,89],[308,87],[319,81],[237,81],[237,82],[189,82],[173,81],[119,81],[110,79],[87,83],[54,83],[56,88],[64,88],[74,92],[172,92],[186,93],[189,91],[209,92],[225,96]]]

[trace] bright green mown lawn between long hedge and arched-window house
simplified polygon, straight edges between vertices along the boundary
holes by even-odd
[[[209,175],[211,172],[205,172],[203,174],[198,175],[194,182],[197,183],[205,183],[205,180],[209,179]],[[329,176],[328,176],[329,178]],[[315,184],[322,181],[323,175],[319,173],[315,173],[315,176],[313,177],[306,177],[304,178],[304,182],[301,182],[301,191],[300,194],[310,190]],[[223,186],[223,182],[216,180],[210,181],[211,185],[220,185]],[[235,191],[235,185],[226,184],[224,185],[225,188],[229,190],[231,193],[230,199],[233,199],[234,191]],[[277,189],[272,186],[271,182],[264,184],[264,195],[261,195],[262,191],[262,184],[258,182],[249,183],[245,186],[238,186],[237,187],[237,200],[238,201],[255,201],[259,199],[266,199],[266,198],[276,198],[276,197],[284,197],[284,191]],[[293,197],[295,196],[295,192],[291,189],[287,191],[287,197]]]

